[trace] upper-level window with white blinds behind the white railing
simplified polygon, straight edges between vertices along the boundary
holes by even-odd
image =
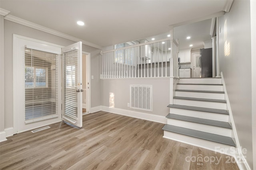
[[[116,44],[115,49],[129,47],[132,43]],[[132,48],[115,51],[115,63],[133,65],[133,51]]]

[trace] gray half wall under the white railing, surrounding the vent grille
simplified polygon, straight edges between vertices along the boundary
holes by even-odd
[[[170,100],[170,78],[158,80],[100,80],[101,81],[101,105],[110,106],[110,93],[114,94],[114,108],[133,110],[154,115],[166,116],[169,113]],[[130,109],[130,85],[152,85],[152,109],[153,111],[142,111]]]

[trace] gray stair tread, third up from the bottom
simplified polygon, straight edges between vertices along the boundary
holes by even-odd
[[[178,108],[178,109],[187,109],[187,110],[195,110],[195,111],[205,111],[205,112],[220,113],[220,114],[229,115],[228,111],[223,110],[223,109],[212,109],[212,108],[206,108],[206,107],[184,106],[184,105],[177,105],[177,104],[169,104],[167,107],[173,107],[173,108]]]

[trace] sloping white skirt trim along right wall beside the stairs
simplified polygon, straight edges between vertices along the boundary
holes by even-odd
[[[235,127],[235,123],[234,123],[234,119],[233,119],[233,115],[232,115],[232,110],[230,107],[230,102],[228,100],[228,94],[227,94],[227,90],[226,90],[226,85],[225,85],[225,81],[224,81],[224,77],[223,77],[223,73],[220,72],[221,75],[221,79],[222,79],[222,84],[223,84],[223,90],[225,92],[225,98],[227,101],[227,106],[228,106],[228,111],[229,111],[229,115],[230,115],[230,121],[232,123],[232,129],[233,129],[233,133],[234,133],[234,137],[235,137],[235,141],[236,141],[236,149],[238,150],[238,153],[236,152],[234,154],[234,158],[236,160],[237,165],[239,166],[239,168],[241,170],[247,169],[250,170],[250,166],[248,165],[246,158],[244,157],[244,154],[242,152],[242,147],[240,146],[239,140],[238,140],[238,135],[236,133],[236,127]]]

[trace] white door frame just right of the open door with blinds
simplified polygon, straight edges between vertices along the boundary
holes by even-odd
[[[82,54],[87,55],[86,57],[86,112],[83,115],[89,114],[91,110],[91,53],[82,51]],[[89,84],[88,84],[89,83]],[[89,87],[89,88],[88,88]]]

